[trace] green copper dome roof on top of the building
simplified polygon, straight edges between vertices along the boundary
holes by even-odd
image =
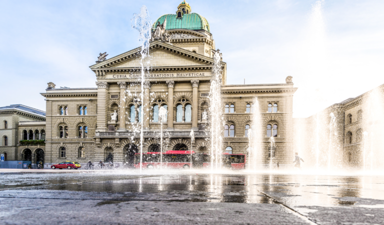
[[[210,32],[209,30],[209,23],[208,21],[201,15],[192,12],[183,14],[181,18],[177,18],[176,14],[165,14],[153,23],[153,29],[156,28],[157,22],[160,22],[162,24],[166,18],[166,26],[165,29],[195,29],[195,30],[206,30]]]

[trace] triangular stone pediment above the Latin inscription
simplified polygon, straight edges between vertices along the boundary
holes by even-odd
[[[132,49],[105,61],[91,65],[90,68],[141,67],[140,49],[141,47]],[[160,41],[153,41],[150,43],[149,54],[151,56],[151,66],[207,66],[213,64],[213,59],[210,57]]]

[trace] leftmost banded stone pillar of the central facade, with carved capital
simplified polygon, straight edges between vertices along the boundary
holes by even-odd
[[[97,129],[96,131],[104,132],[108,128],[106,127],[106,123],[108,121],[107,108],[106,105],[109,90],[108,82],[96,82],[97,85]]]

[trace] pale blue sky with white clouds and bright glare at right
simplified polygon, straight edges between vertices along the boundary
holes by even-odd
[[[133,13],[152,22],[181,0],[0,0],[0,106],[45,110],[47,82],[96,87],[89,69],[138,46]],[[189,0],[227,63],[227,84],[284,83],[307,117],[384,83],[383,0]]]

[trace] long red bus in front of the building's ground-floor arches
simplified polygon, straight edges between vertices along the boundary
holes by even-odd
[[[192,156],[192,160],[190,157]],[[160,152],[142,154],[142,168],[160,168]],[[134,166],[140,168],[140,153],[134,157]],[[245,169],[245,154],[222,153],[221,166],[230,169]],[[185,150],[171,150],[162,153],[163,168],[210,168],[211,157],[207,153]],[[213,163],[215,167],[215,163]]]

